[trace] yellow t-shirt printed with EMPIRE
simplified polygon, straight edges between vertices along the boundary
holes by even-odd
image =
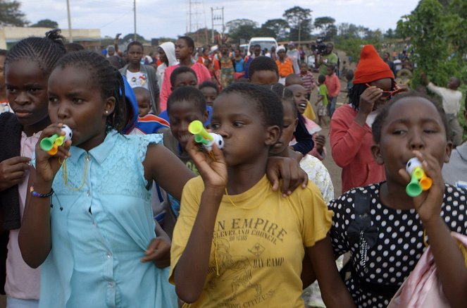
[[[189,180],[183,189],[170,250],[171,283],[203,191],[201,177]],[[323,240],[331,221],[332,211],[311,181],[284,198],[273,192],[265,175],[242,194],[224,195],[203,291],[197,302],[184,307],[304,307],[300,280],[304,246]]]

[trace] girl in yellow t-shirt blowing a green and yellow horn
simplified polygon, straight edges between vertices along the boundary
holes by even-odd
[[[328,237],[332,211],[316,185],[282,195],[266,178],[282,127],[275,93],[235,83],[214,102],[211,128],[223,150],[188,143],[201,177],[185,185],[170,262],[185,307],[304,307],[305,251],[327,307],[354,305]]]

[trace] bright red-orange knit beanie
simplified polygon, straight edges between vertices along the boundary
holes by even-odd
[[[354,85],[384,78],[394,79],[392,70],[385,61],[382,61],[373,45],[365,45],[361,49],[360,61],[354,73]]]

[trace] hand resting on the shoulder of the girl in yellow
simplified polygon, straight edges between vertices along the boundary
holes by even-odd
[[[273,191],[279,189],[284,197],[292,195],[292,192],[301,185],[308,184],[308,175],[300,168],[297,159],[290,157],[270,156],[266,166],[266,175],[273,185]],[[282,180],[282,185],[280,184]]]

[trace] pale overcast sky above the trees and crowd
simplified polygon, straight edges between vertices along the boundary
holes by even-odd
[[[132,0],[69,0],[72,28],[100,28],[101,35],[133,32]],[[19,0],[27,20],[55,20],[68,28],[66,0]],[[287,8],[309,8],[312,18],[331,16],[336,23],[354,23],[372,30],[395,28],[418,0],[192,0],[192,23],[211,28],[211,7],[224,7],[225,23],[237,18],[255,20],[282,18]],[[146,39],[177,37],[187,31],[189,0],[136,0],[137,32]],[[197,14],[195,14],[197,13]],[[220,27],[219,27],[220,29]]]

